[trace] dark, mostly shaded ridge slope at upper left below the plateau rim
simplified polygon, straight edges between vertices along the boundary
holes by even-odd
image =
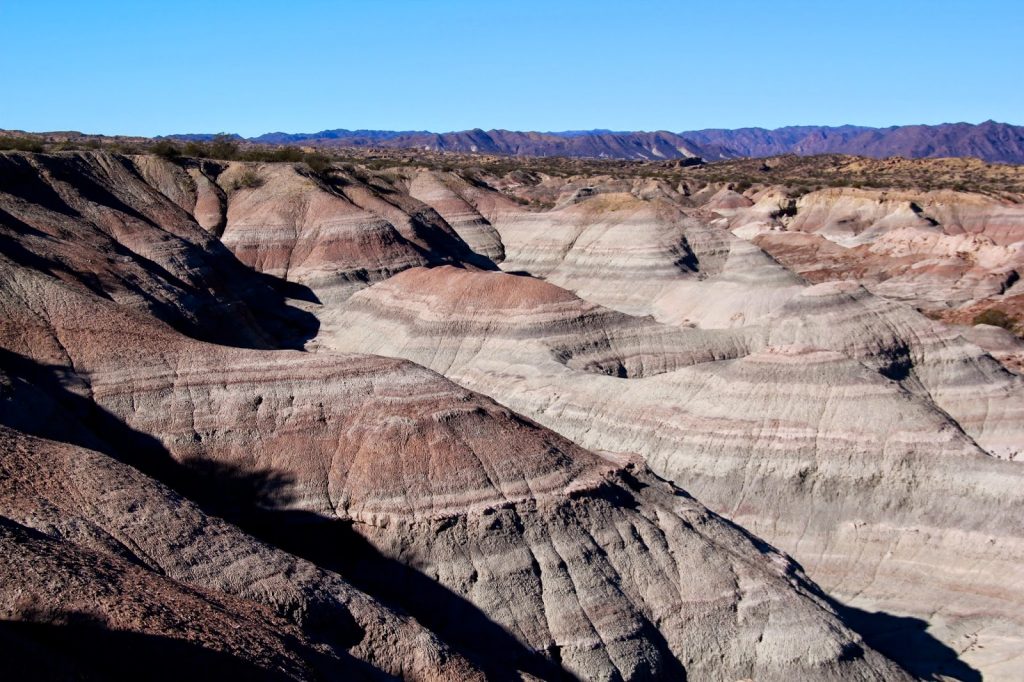
[[[167,162],[6,153],[0,176],[0,243],[11,264],[220,343],[291,345],[314,331],[315,319],[283,305],[286,287],[244,267],[161,191],[187,205],[188,176]]]

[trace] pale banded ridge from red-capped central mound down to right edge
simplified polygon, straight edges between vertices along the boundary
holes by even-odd
[[[952,647],[980,643],[971,660],[1004,663],[1020,629],[1024,537],[1007,519],[1024,473],[990,453],[1019,452],[1019,380],[958,337],[925,335],[934,324],[913,311],[916,329],[862,290],[816,289],[765,329],[703,332],[630,324],[527,278],[417,269],[354,296],[324,334],[426,364],[582,444],[639,453],[851,605],[927,617]]]

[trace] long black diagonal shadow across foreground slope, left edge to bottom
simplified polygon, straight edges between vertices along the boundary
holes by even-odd
[[[414,615],[452,648],[481,666],[490,679],[518,679],[516,670],[546,680],[572,679],[462,596],[382,555],[351,523],[280,509],[293,499],[294,479],[290,475],[204,459],[179,463],[153,436],[68,390],[74,377],[66,368],[44,367],[0,349],[0,370],[7,375],[7,385],[0,383],[0,424],[101,452],[169,485],[207,513],[340,572],[365,592]],[[332,615],[337,614],[325,614]],[[304,628],[308,636],[325,643],[354,644],[359,633],[347,627],[336,631],[336,621],[312,619]]]

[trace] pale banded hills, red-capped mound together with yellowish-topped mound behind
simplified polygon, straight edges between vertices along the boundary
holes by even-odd
[[[856,283],[808,286],[719,227],[718,210],[755,202],[712,191],[658,212],[664,197],[573,195],[488,216],[516,274],[408,270],[353,296],[321,342],[413,359],[639,454],[850,604],[922,619],[1013,678],[1021,474],[998,458],[1024,443],[1020,378],[956,329]]]

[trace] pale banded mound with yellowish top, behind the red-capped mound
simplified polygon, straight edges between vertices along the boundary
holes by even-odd
[[[670,324],[751,324],[802,284],[760,250],[664,198],[599,194],[552,211],[504,211],[492,222],[505,245],[502,269]],[[712,287],[714,300],[701,295]]]

